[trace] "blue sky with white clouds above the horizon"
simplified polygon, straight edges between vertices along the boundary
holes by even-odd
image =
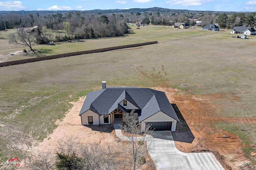
[[[0,0],[0,11],[108,10],[151,7],[182,10],[255,12],[256,0]]]

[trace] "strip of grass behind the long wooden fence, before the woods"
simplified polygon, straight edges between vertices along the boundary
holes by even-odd
[[[21,51],[24,48],[28,50],[28,47],[8,43],[8,34],[14,32],[16,32],[16,29],[11,29],[8,30],[8,32],[3,32],[2,34],[0,34],[0,43],[3,44],[2,47],[0,46],[0,55],[5,55],[7,57],[7,59],[3,61],[14,61],[18,59],[27,59],[44,55],[70,53],[76,51],[85,51],[90,49],[99,49],[150,41],[166,42],[172,40],[179,40],[182,38],[212,34],[212,32],[205,32],[200,30],[199,28],[193,30],[181,30],[167,28],[164,26],[144,26],[140,27],[140,29],[132,27],[132,29],[130,29],[131,34],[126,34],[126,36],[123,37],[85,39],[83,40],[83,42],[72,41],[72,43],[56,42],[56,45],[34,45],[32,46],[32,48],[40,50],[42,51],[42,53],[38,53],[38,55],[30,53],[28,55],[22,54],[9,56],[9,53]]]

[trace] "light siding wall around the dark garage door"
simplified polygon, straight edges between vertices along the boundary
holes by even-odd
[[[177,121],[161,111],[141,122],[142,131],[145,130],[146,122],[172,122],[172,131],[176,131]]]

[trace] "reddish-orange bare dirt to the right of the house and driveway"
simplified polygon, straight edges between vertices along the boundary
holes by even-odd
[[[222,99],[227,96],[184,95],[172,88],[155,88],[165,91],[170,103],[176,103],[182,115],[178,115],[180,123],[178,132],[173,132],[176,147],[186,153],[212,152],[225,169],[237,169],[244,162],[250,162],[242,148],[242,140],[227,131],[216,130],[212,123],[218,121],[256,123],[256,118],[220,118],[218,106],[209,99]],[[234,100],[236,97],[234,97]],[[212,113],[217,113],[213,115]],[[252,153],[253,154],[253,153]]]

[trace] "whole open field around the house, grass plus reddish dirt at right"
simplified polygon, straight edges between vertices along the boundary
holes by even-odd
[[[130,32],[119,38],[33,48],[52,55],[158,43],[0,67],[0,166],[12,157],[25,160],[33,148],[38,151],[44,146],[42,142],[52,141],[50,135],[61,125],[56,121],[66,120],[65,114],[77,105],[74,101],[101,89],[102,81],[108,87],[165,91],[184,117],[178,132],[173,133],[176,147],[182,152],[213,152],[225,169],[237,169],[246,162],[256,165],[256,36],[242,40],[231,38],[230,30],[164,26],[131,27]],[[28,57],[10,56],[24,47],[10,48],[4,34],[8,33],[0,33],[1,61]],[[74,125],[81,130],[78,135],[90,133]],[[83,129],[87,131],[83,133]],[[114,135],[106,139],[112,142]]]

